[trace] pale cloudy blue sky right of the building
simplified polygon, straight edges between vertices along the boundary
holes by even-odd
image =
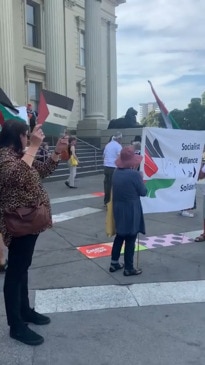
[[[154,101],[185,109],[205,91],[205,0],[127,0],[116,8],[118,117]]]

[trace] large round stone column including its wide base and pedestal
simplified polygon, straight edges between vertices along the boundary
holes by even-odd
[[[77,136],[100,146],[103,115],[101,69],[101,0],[85,1],[86,115],[78,122]]]

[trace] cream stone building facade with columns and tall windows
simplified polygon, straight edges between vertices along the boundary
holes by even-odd
[[[69,96],[70,129],[116,118],[115,10],[125,2],[1,0],[0,87],[34,109],[42,88]]]

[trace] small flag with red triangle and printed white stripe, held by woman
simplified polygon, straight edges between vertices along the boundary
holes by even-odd
[[[48,135],[59,136],[68,127],[68,121],[73,108],[73,99],[48,90],[42,90],[38,108],[38,124],[43,124],[43,130]]]

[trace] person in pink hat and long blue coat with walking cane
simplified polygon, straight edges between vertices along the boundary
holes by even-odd
[[[133,146],[124,147],[115,161],[112,197],[116,236],[111,253],[110,272],[124,267],[124,276],[139,275],[134,268],[135,242],[138,233],[145,234],[145,223],[140,196],[147,194],[141,172],[137,171],[142,156],[135,154]],[[124,265],[119,263],[120,252],[125,242]]]

